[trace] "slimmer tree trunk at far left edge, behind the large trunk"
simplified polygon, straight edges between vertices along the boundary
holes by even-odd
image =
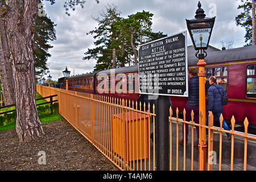
[[[1,3],[0,3],[1,6]],[[11,67],[10,47],[7,40],[5,22],[0,18],[0,77],[5,105],[15,104],[13,68]]]

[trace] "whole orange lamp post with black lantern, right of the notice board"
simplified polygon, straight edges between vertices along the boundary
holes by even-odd
[[[194,19],[187,21],[189,35],[192,43],[196,49],[196,57],[199,59],[197,66],[199,66],[199,123],[205,125],[205,63],[204,58],[207,56],[205,50],[208,48],[210,35],[215,21],[214,18],[205,17],[204,10],[201,9],[201,3],[198,3],[198,9]],[[206,133],[205,127],[199,128],[199,170],[206,169]],[[201,150],[202,149],[202,150]]]

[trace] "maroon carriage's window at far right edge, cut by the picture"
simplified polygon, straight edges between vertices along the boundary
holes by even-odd
[[[255,65],[248,65],[247,66],[247,78],[246,78],[246,85],[247,85],[247,92],[246,97],[256,98],[256,75],[255,75]]]

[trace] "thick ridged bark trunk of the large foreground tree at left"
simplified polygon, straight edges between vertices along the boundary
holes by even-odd
[[[34,42],[38,1],[9,1],[5,20],[13,57],[16,133],[19,141],[43,137],[36,109]]]

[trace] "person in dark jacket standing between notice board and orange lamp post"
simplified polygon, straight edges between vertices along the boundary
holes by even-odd
[[[191,111],[194,113],[194,122],[199,123],[199,76],[197,76],[196,68],[189,68],[188,74],[190,79],[188,80],[188,99],[187,105],[185,106],[186,111],[186,121],[191,121]],[[184,127],[182,127],[184,130]],[[197,144],[199,143],[199,127],[196,126],[197,132]],[[184,136],[184,131],[183,135]],[[184,144],[184,138],[179,141],[180,144]],[[188,143],[188,125],[185,124],[185,144]]]

